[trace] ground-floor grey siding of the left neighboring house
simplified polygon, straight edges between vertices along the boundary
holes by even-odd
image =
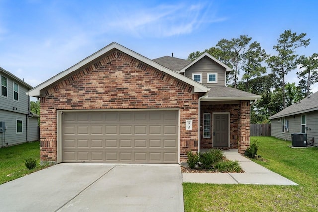
[[[22,133],[16,133],[16,119],[22,120]],[[0,110],[0,121],[5,122],[7,130],[0,133],[0,146],[16,145],[26,142],[26,115]]]

